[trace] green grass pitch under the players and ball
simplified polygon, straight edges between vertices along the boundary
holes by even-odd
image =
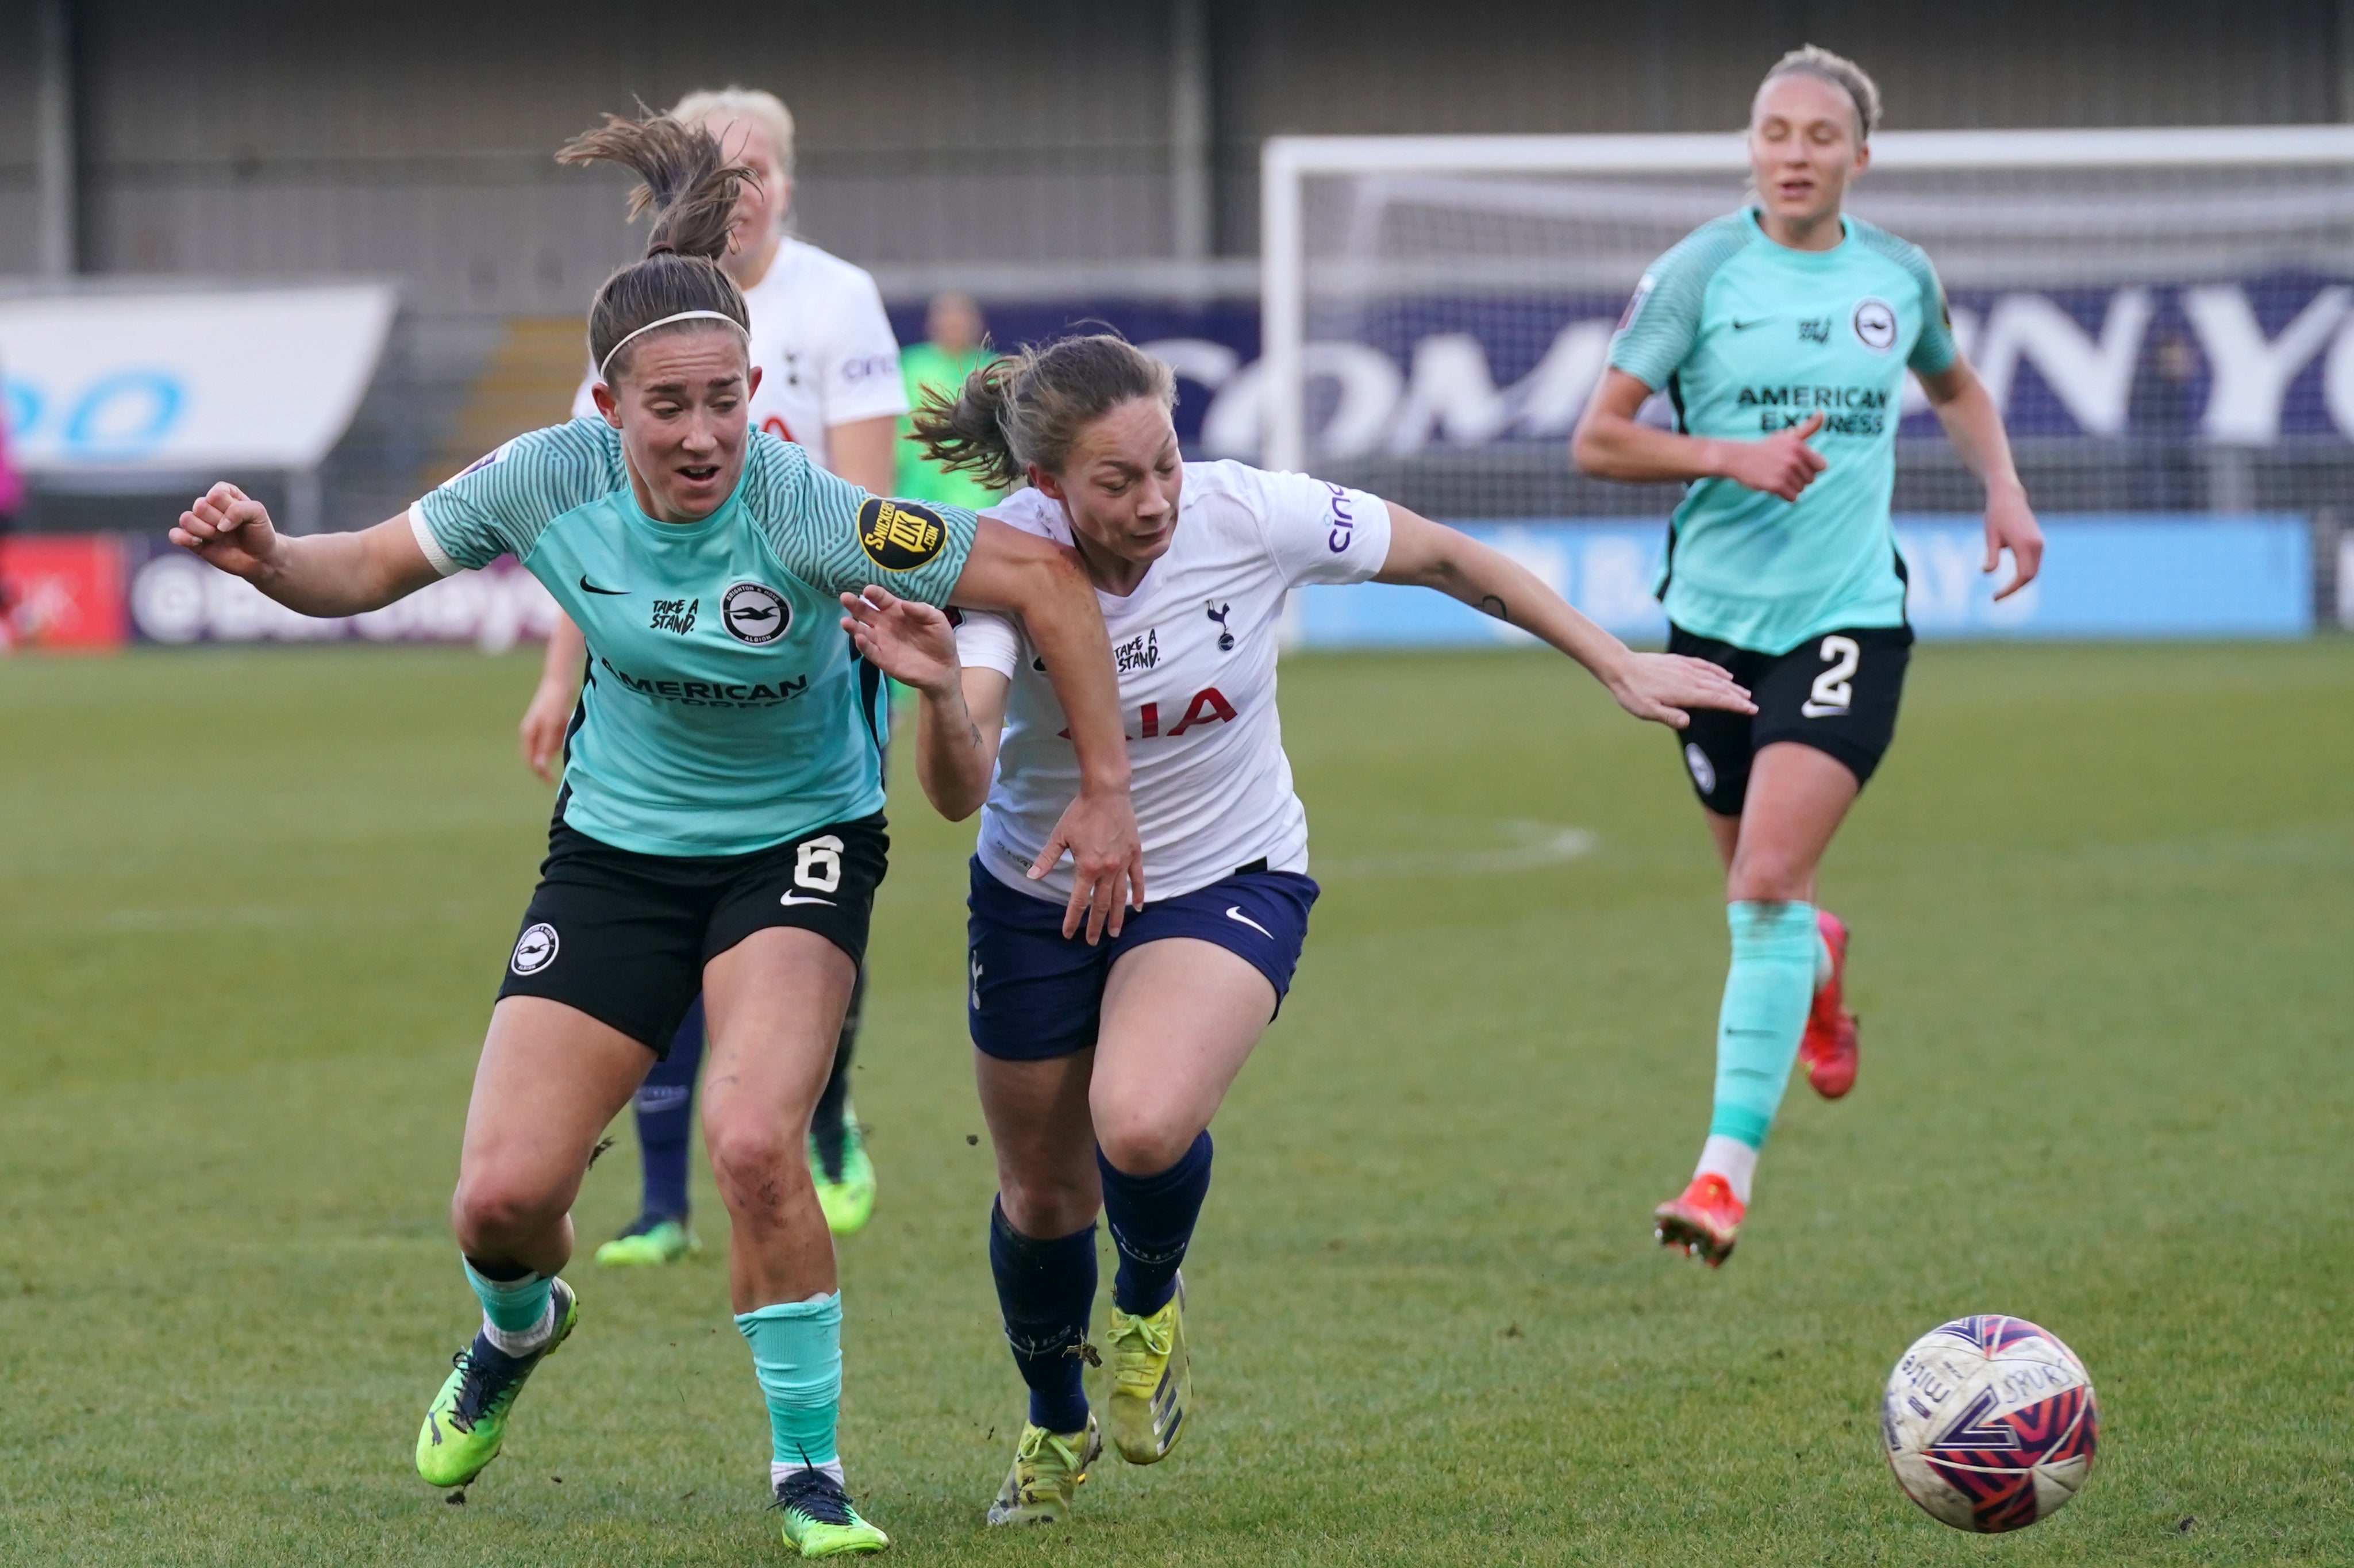
[[[0,1561],[760,1563],[765,1420],[701,1262],[600,1276],[464,1507],[445,1231],[539,857],[527,662],[0,666]],[[1831,852],[1855,1095],[1798,1083],[1709,1274],[1725,935],[1674,746],[1558,659],[1311,657],[1325,899],[1217,1123],[1177,1457],[982,1507],[1022,1415],[963,1038],[967,829],[911,789],[843,1245],[845,1457],[913,1563],[2276,1563],[2354,1556],[2354,647],[1928,647]],[[1570,836],[1568,829],[1591,838]],[[1572,850],[1582,855],[1570,855]],[[588,1180],[629,1217],[633,1149]],[[2057,1519],[1919,1514],[1881,1377],[2013,1311],[2100,1387]]]

